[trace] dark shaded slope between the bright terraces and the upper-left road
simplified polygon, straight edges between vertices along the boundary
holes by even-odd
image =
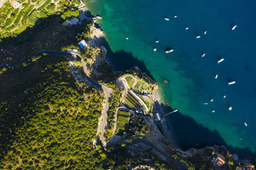
[[[63,22],[59,15],[38,18],[33,27],[26,28],[16,37],[4,38],[0,42],[0,64],[25,62],[41,50],[60,50],[68,45],[78,45],[77,37],[89,29],[87,22],[72,27],[62,26]],[[9,57],[11,60],[7,61]]]

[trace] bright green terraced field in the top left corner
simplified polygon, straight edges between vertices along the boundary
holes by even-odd
[[[14,8],[10,1],[6,1],[0,8],[0,42],[1,39],[14,37],[26,28],[33,26],[38,18],[46,18],[53,14],[78,16],[78,10],[65,10],[70,7],[71,1],[65,0],[20,0],[20,8]],[[74,0],[72,6],[78,7],[80,2]],[[74,15],[75,14],[75,15]]]

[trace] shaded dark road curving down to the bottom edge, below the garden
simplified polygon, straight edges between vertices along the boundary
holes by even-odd
[[[162,154],[164,157],[166,157],[167,159],[169,159],[172,163],[174,163],[178,168],[183,169],[183,170],[188,170],[187,167],[181,163],[178,162],[176,159],[174,159],[173,157],[171,157],[169,154],[166,154],[166,152],[162,151],[161,149],[159,149],[158,147],[156,147],[155,145],[153,145],[151,142],[145,140],[145,139],[136,139],[133,140],[132,143],[127,143],[128,147],[129,145],[133,145],[137,142],[143,142],[146,145],[149,145],[150,147],[152,147],[153,149],[155,149],[157,152],[159,152],[160,154]],[[107,152],[107,154],[115,154],[117,152],[119,152],[120,150],[124,149],[125,147],[119,147],[117,149],[114,149],[112,152]]]

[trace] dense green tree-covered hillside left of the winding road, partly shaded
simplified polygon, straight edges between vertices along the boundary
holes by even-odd
[[[0,169],[97,169],[92,148],[103,95],[73,79],[63,57],[0,74]]]

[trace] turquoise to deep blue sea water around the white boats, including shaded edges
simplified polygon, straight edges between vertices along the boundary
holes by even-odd
[[[110,60],[117,67],[120,63],[122,67],[136,65],[127,57],[143,62],[159,82],[163,102],[181,112],[168,119],[183,149],[215,143],[240,155],[255,154],[256,1],[85,3],[92,14],[103,17],[98,23],[111,50],[132,54],[112,55]],[[165,21],[164,17],[170,20]],[[238,27],[231,30],[235,25]],[[201,38],[197,39],[198,35]],[[166,47],[174,52],[166,54]],[[206,55],[201,57],[203,53]],[[224,61],[218,64],[221,58]],[[164,79],[169,84],[164,84]],[[228,85],[229,81],[236,84]],[[228,111],[230,106],[232,111]]]

